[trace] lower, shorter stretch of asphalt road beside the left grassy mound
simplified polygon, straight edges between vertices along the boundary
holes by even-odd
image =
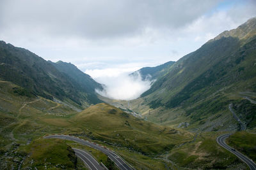
[[[77,157],[83,160],[83,162],[92,170],[104,170],[102,166],[95,160],[89,153],[79,150],[77,148],[72,148],[76,153]]]

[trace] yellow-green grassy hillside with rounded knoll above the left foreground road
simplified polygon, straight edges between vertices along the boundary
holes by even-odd
[[[17,85],[8,81],[0,81],[0,87],[0,167],[3,169],[18,168],[24,154],[19,148],[45,134],[73,134],[113,150],[121,148],[123,155],[131,156],[134,152],[137,159],[129,159],[129,163],[138,167],[147,167],[143,166],[144,160],[150,161],[154,155],[193,138],[189,132],[145,122],[108,104],[97,104],[77,113],[43,97],[19,96],[12,92]],[[19,146],[14,147],[16,144]],[[106,162],[106,157],[102,161]],[[162,167],[163,163],[154,160],[154,164]]]

